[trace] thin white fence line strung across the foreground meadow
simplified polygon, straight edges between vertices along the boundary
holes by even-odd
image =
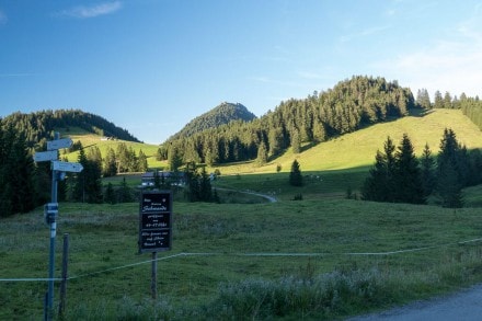
[[[311,257],[313,257],[313,256],[336,256],[336,255],[338,255],[338,256],[343,256],[343,255],[348,255],[348,256],[383,256],[383,255],[394,255],[394,254],[426,251],[426,250],[432,250],[432,249],[447,248],[447,247],[451,247],[451,245],[462,245],[462,244],[468,244],[468,243],[475,243],[479,241],[482,241],[482,238],[467,240],[467,241],[460,241],[460,242],[455,242],[455,243],[440,244],[440,245],[423,247],[423,248],[398,250],[398,251],[387,251],[387,252],[342,252],[342,253],[331,253],[331,252],[313,252],[313,253],[181,252],[181,253],[176,253],[176,254],[172,254],[172,255],[168,255],[168,256],[158,257],[156,261],[164,261],[164,260],[175,259],[175,257],[180,257],[180,256],[213,256],[213,255],[217,255],[217,256],[218,255],[225,255],[225,256],[311,256]],[[123,270],[123,268],[128,268],[128,267],[138,266],[138,265],[142,265],[142,264],[150,264],[150,263],[152,263],[152,260],[146,260],[146,261],[141,261],[141,262],[110,267],[110,268],[101,270],[101,271],[96,271],[96,272],[70,276],[67,278],[67,280],[89,277],[89,276],[93,276],[93,275],[97,275],[97,274],[102,274],[102,273],[107,273],[107,272],[112,272],[112,271],[117,271],[117,270]],[[0,278],[0,282],[49,282],[49,280],[58,282],[58,280],[62,280],[62,279],[58,278],[58,277],[55,277],[55,278],[48,278],[48,277],[47,278],[42,278],[42,277],[38,277],[38,278],[21,278],[21,277],[19,277],[19,278]]]

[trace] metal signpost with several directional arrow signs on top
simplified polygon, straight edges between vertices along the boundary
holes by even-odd
[[[49,161],[51,164],[51,199],[45,205],[45,221],[50,228],[50,253],[48,256],[48,291],[46,294],[44,317],[45,320],[51,320],[54,313],[54,270],[55,270],[55,238],[57,234],[57,185],[62,172],[81,172],[83,170],[80,163],[69,163],[58,161],[58,150],[72,146],[72,139],[59,138],[55,133],[54,140],[47,141],[47,151],[39,151],[34,154],[34,161]]]

